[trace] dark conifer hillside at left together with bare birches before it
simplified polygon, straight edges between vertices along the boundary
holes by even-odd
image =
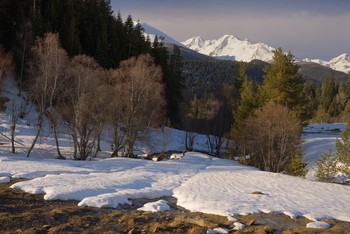
[[[58,156],[63,157],[58,135],[64,131],[73,139],[75,159],[98,153],[107,124],[114,130],[113,156],[121,147],[132,156],[147,127],[179,124],[184,88],[179,48],[170,54],[161,38],[151,43],[131,15],[122,19],[112,11],[110,1],[2,1],[1,11],[1,78],[14,77],[20,88],[13,95],[26,91],[26,103],[37,110],[27,157],[45,119]],[[13,103],[13,146],[27,104]]]

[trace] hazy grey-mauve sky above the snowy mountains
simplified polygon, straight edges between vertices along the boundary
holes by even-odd
[[[349,0],[111,0],[178,41],[231,34],[291,51],[298,58],[330,60],[350,54]]]

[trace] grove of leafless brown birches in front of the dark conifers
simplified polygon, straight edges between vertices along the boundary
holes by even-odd
[[[104,69],[87,55],[70,58],[60,45],[59,35],[48,33],[36,40],[32,56],[32,78],[27,89],[37,117],[36,134],[27,157],[43,131],[45,118],[54,134],[57,155],[65,157],[59,142],[59,136],[65,133],[71,136],[73,158],[78,160],[96,156],[101,150],[99,144],[106,125],[112,129],[112,156],[123,151],[124,156],[131,157],[141,132],[164,122],[162,69],[150,54],[124,60],[118,68]],[[19,103],[14,105],[17,106],[13,107],[12,118],[18,120],[23,110]],[[16,124],[12,122],[14,131]]]

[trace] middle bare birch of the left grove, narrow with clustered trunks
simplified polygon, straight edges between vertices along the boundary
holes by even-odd
[[[96,61],[86,55],[75,56],[70,64],[68,75],[67,97],[69,105],[65,113],[65,120],[69,123],[74,143],[74,159],[85,160],[94,156],[97,130],[96,117],[100,103],[97,95],[101,83],[102,68]]]

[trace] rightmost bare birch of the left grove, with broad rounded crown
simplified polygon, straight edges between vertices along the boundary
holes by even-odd
[[[117,108],[124,124],[126,156],[133,156],[134,144],[148,126],[162,122],[165,101],[162,71],[150,55],[130,58],[115,70]]]

